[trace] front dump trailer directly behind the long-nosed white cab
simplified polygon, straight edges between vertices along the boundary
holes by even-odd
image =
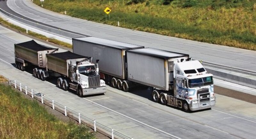
[[[82,61],[85,58],[88,57],[77,55],[70,51],[49,54],[47,55],[46,70],[52,70],[61,75],[70,77],[70,64]]]

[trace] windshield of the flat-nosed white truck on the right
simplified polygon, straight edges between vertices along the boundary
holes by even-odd
[[[199,87],[199,86],[210,85],[210,84],[213,84],[212,76],[188,80],[189,87]]]

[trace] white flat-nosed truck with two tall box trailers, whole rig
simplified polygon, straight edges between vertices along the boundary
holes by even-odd
[[[73,52],[99,59],[101,78],[119,90],[146,85],[154,102],[186,112],[215,105],[213,75],[187,54],[95,37],[73,38]]]

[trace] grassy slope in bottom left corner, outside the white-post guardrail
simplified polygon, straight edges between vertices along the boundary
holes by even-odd
[[[0,76],[0,138],[94,139],[83,125],[64,123],[38,104],[3,84]]]

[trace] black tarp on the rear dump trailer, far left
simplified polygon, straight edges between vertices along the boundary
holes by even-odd
[[[54,48],[50,48],[50,47],[40,45],[40,44],[36,43],[35,40],[30,40],[30,41],[18,43],[16,45],[19,45],[21,47],[28,48],[28,49],[31,49],[31,50],[34,50],[34,51],[44,51],[44,50],[53,50],[54,49]]]

